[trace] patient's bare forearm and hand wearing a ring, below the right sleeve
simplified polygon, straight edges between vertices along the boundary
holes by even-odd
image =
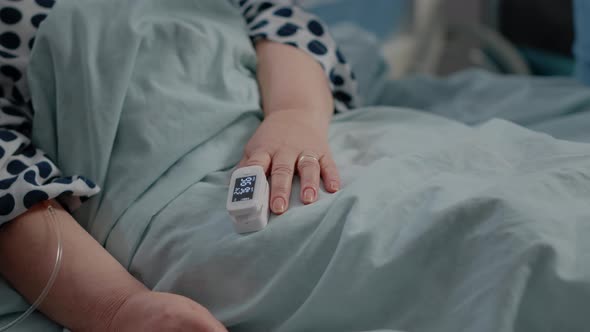
[[[270,208],[281,214],[289,204],[295,170],[305,204],[317,200],[320,175],[328,192],[340,188],[328,146],[334,99],[322,67],[303,51],[260,40],[256,54],[264,121],[246,145],[240,166],[270,170]]]

